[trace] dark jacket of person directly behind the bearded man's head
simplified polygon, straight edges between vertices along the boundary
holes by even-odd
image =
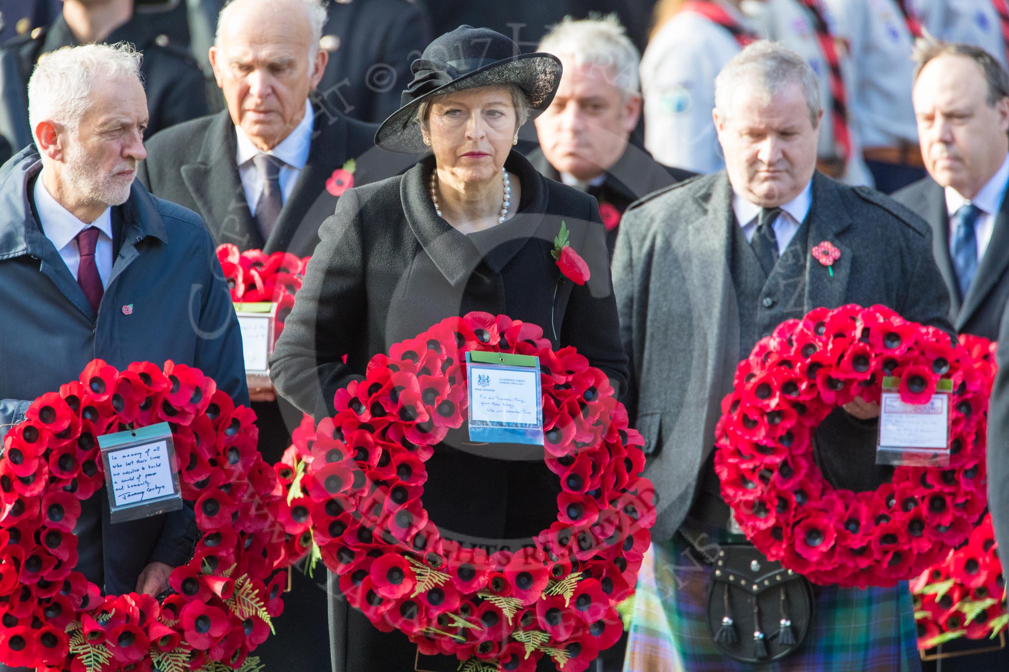
[[[140,74],[143,76],[147,95],[147,112],[150,121],[145,137],[184,121],[207,114],[206,83],[196,60],[185,46],[165,39],[156,19],[150,15],[136,14],[105,38],[106,44],[124,41],[143,52]],[[63,46],[76,46],[77,38],[63,15],[36,35],[22,35],[4,45],[16,54],[20,69],[21,86],[26,87],[31,71],[43,53]],[[27,118],[24,119],[27,121]],[[30,129],[21,129],[30,138]],[[7,129],[0,129],[11,133]],[[11,133],[12,138],[21,138]],[[21,146],[15,143],[15,149]]]

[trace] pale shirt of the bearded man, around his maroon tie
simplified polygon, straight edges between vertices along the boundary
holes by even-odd
[[[95,265],[98,266],[102,287],[107,286],[109,276],[112,275],[112,209],[105,209],[98,219],[91,224],[85,224],[57,203],[42,184],[41,175],[35,180],[32,195],[35,210],[38,211],[38,219],[41,220],[42,233],[60,253],[75,280],[77,280],[77,269],[81,265],[81,255],[75,240],[77,235],[89,227],[95,227],[101,232],[95,243]]]

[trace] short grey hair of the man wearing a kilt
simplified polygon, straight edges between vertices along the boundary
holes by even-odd
[[[813,69],[795,51],[780,42],[759,39],[730,58],[714,78],[714,109],[719,118],[728,119],[733,91],[744,83],[763,87],[768,100],[785,85],[798,84],[815,128],[820,115],[819,84]]]

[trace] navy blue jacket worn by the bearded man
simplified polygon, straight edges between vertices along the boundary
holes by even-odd
[[[36,221],[28,187],[41,165],[29,146],[0,167],[0,425],[23,419],[30,400],[96,358],[119,370],[137,361],[198,367],[247,404],[238,320],[200,217],[134,182],[112,209],[117,255],[96,315]],[[189,559],[192,509],[111,525],[104,490],[83,504],[78,569],[107,592],[133,590],[152,560]]]

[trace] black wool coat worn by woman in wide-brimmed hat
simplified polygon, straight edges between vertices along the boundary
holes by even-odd
[[[595,199],[543,177],[515,151],[506,166],[522,184],[519,212],[483,232],[480,248],[435,214],[432,157],[341,197],[270,361],[282,396],[328,415],[335,392],[360,379],[372,356],[471,310],[539,324],[555,349],[574,346],[623,388],[627,360]],[[550,256],[562,221],[589,266],[585,285],[561,277]],[[492,459],[443,443],[427,465],[424,504],[445,536],[501,547],[556,520],[559,484],[539,459]],[[417,647],[348,612],[335,590],[331,643],[339,672],[414,669]]]

